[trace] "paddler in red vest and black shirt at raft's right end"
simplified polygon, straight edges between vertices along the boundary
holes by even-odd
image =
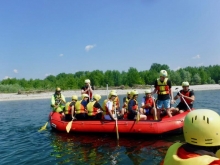
[[[190,107],[190,109],[193,108],[193,102],[195,101],[194,91],[189,89],[189,82],[187,81],[182,83],[182,87],[183,89],[180,90],[177,93],[177,95],[174,97],[174,101],[180,98],[180,102],[176,106],[176,108],[173,107],[171,109],[172,113],[176,113],[176,112],[183,113],[189,109],[188,106]],[[184,100],[186,101],[187,104],[185,103]]]

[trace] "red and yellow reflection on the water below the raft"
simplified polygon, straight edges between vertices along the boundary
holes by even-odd
[[[166,137],[165,137],[166,138]],[[51,133],[51,156],[58,164],[158,164],[173,142],[161,136]]]

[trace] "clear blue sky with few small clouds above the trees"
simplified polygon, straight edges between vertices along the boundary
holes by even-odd
[[[219,0],[7,0],[0,80],[220,64]]]

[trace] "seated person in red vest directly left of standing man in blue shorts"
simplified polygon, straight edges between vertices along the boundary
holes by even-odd
[[[144,115],[153,115],[155,120],[160,119],[160,113],[155,107],[155,100],[151,96],[151,90],[145,91],[145,96],[142,98],[140,113]]]

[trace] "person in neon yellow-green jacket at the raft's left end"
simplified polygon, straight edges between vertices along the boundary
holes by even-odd
[[[53,108],[54,112],[63,113],[63,109],[65,108],[66,99],[61,94],[61,89],[59,87],[56,88],[55,93],[51,97],[51,107]]]

